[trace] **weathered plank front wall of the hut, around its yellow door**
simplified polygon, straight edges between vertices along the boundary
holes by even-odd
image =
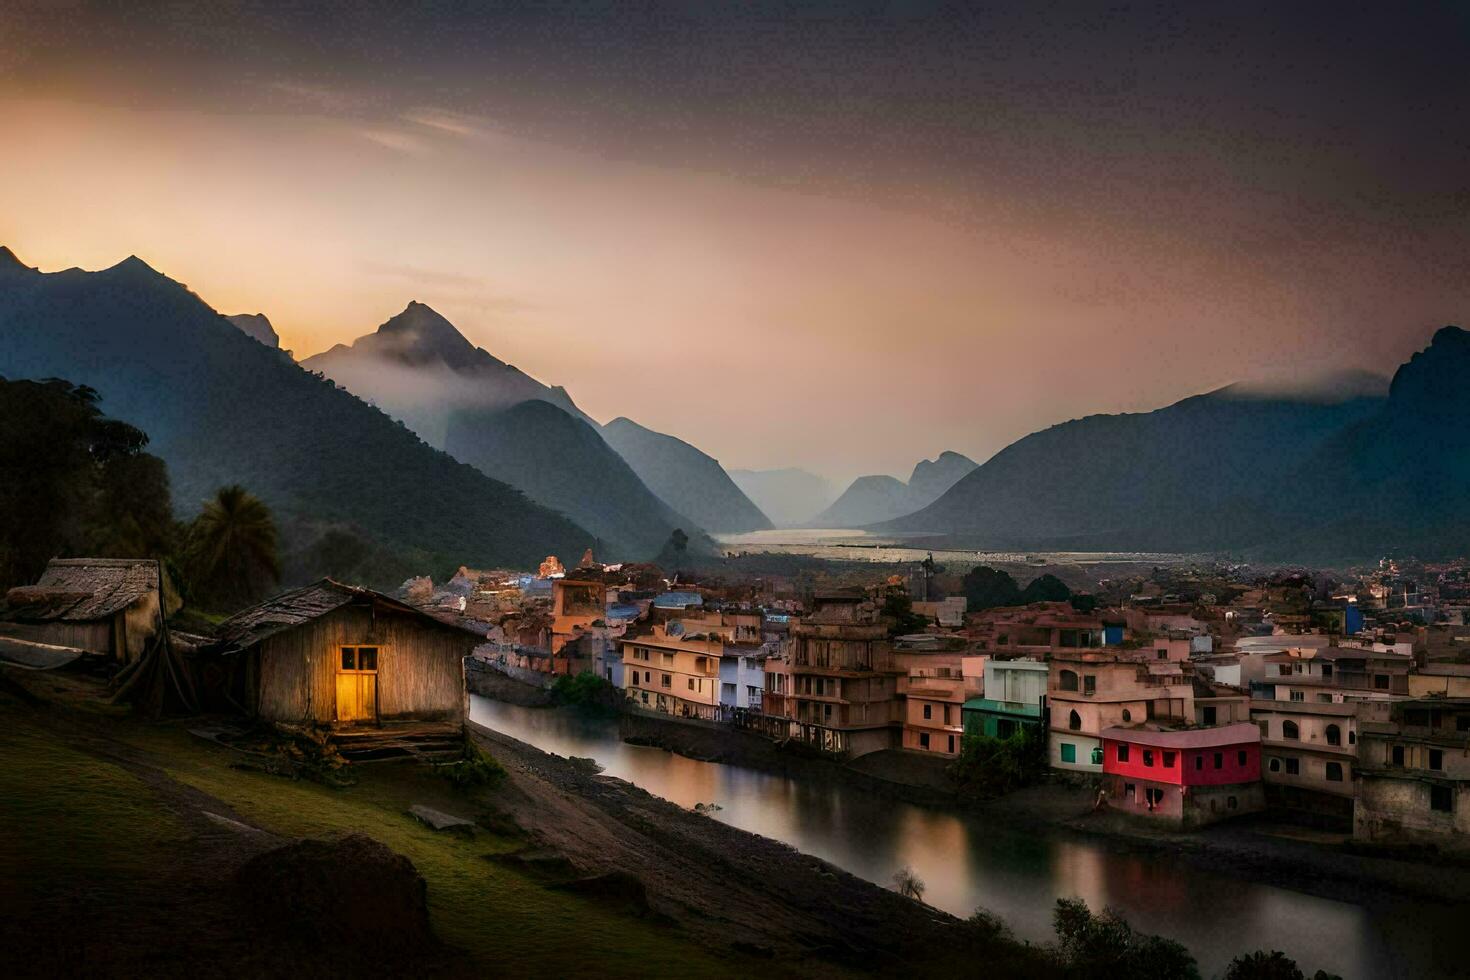
[[[337,720],[338,648],[378,645],[378,717],[465,717],[465,657],[478,639],[407,616],[350,605],[260,645],[260,716],[273,721]]]

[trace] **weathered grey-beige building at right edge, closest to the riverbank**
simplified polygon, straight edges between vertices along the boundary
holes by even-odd
[[[1399,701],[1388,713],[1358,730],[1352,836],[1470,852],[1470,699]]]

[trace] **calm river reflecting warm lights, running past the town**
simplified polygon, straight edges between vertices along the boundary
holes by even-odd
[[[1185,943],[1204,977],[1252,949],[1280,949],[1308,977],[1314,970],[1345,980],[1466,976],[1458,930],[1470,909],[1398,898],[1339,902],[1129,854],[1105,839],[988,826],[836,783],[700,763],[628,745],[616,720],[560,708],[472,695],[470,718],[557,755],[595,758],[607,774],[682,807],[719,804],[716,820],[785,840],[869,882],[889,886],[894,871],[913,867],[931,905],[956,915],[988,908],[1022,939],[1053,939],[1053,905],[1080,896],[1094,909],[1120,909],[1139,930]]]

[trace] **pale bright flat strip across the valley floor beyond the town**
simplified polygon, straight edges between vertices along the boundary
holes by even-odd
[[[983,564],[1095,564],[1105,561],[1147,561],[1175,564],[1188,555],[1144,551],[956,551],[914,548],[903,538],[886,538],[848,527],[778,527],[751,530],[742,535],[714,535],[714,541],[731,554],[792,554],[847,561],[922,561],[933,554],[936,561],[970,561]]]

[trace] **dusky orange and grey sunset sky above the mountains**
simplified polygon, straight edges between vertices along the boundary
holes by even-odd
[[[0,244],[906,478],[1470,320],[1470,4],[0,4]]]

